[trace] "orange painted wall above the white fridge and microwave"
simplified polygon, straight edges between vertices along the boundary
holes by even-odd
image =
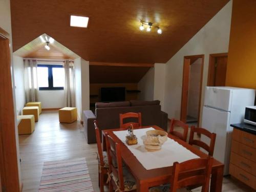
[[[256,0],[233,0],[226,86],[256,89]]]

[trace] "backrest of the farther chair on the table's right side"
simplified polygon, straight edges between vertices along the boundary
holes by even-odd
[[[178,131],[174,131],[174,127],[179,126],[183,128],[183,134],[178,132]],[[183,123],[180,120],[176,120],[176,119],[172,119],[170,120],[170,134],[182,139],[183,141],[187,141],[187,133],[188,133],[188,125]]]

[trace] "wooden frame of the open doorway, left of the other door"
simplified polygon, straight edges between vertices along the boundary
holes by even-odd
[[[190,59],[193,58],[202,58],[201,64],[201,77],[200,77],[200,95],[199,95],[199,108],[198,108],[198,125],[200,122],[200,113],[201,113],[201,98],[202,98],[202,86],[203,86],[203,71],[204,71],[204,55],[191,55],[184,56],[183,63],[183,78],[182,78],[182,95],[181,95],[181,110],[180,110],[180,120],[186,123],[187,116],[187,101],[188,101],[188,85],[189,85],[189,66]]]

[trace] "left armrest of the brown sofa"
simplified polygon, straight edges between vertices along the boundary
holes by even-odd
[[[88,144],[96,143],[94,120],[96,120],[96,117],[92,111],[83,111],[84,136],[86,136]]]

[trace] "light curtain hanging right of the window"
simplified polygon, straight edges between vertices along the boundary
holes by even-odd
[[[65,102],[66,106],[75,106],[75,74],[74,74],[74,62],[65,60],[63,63],[65,69]]]

